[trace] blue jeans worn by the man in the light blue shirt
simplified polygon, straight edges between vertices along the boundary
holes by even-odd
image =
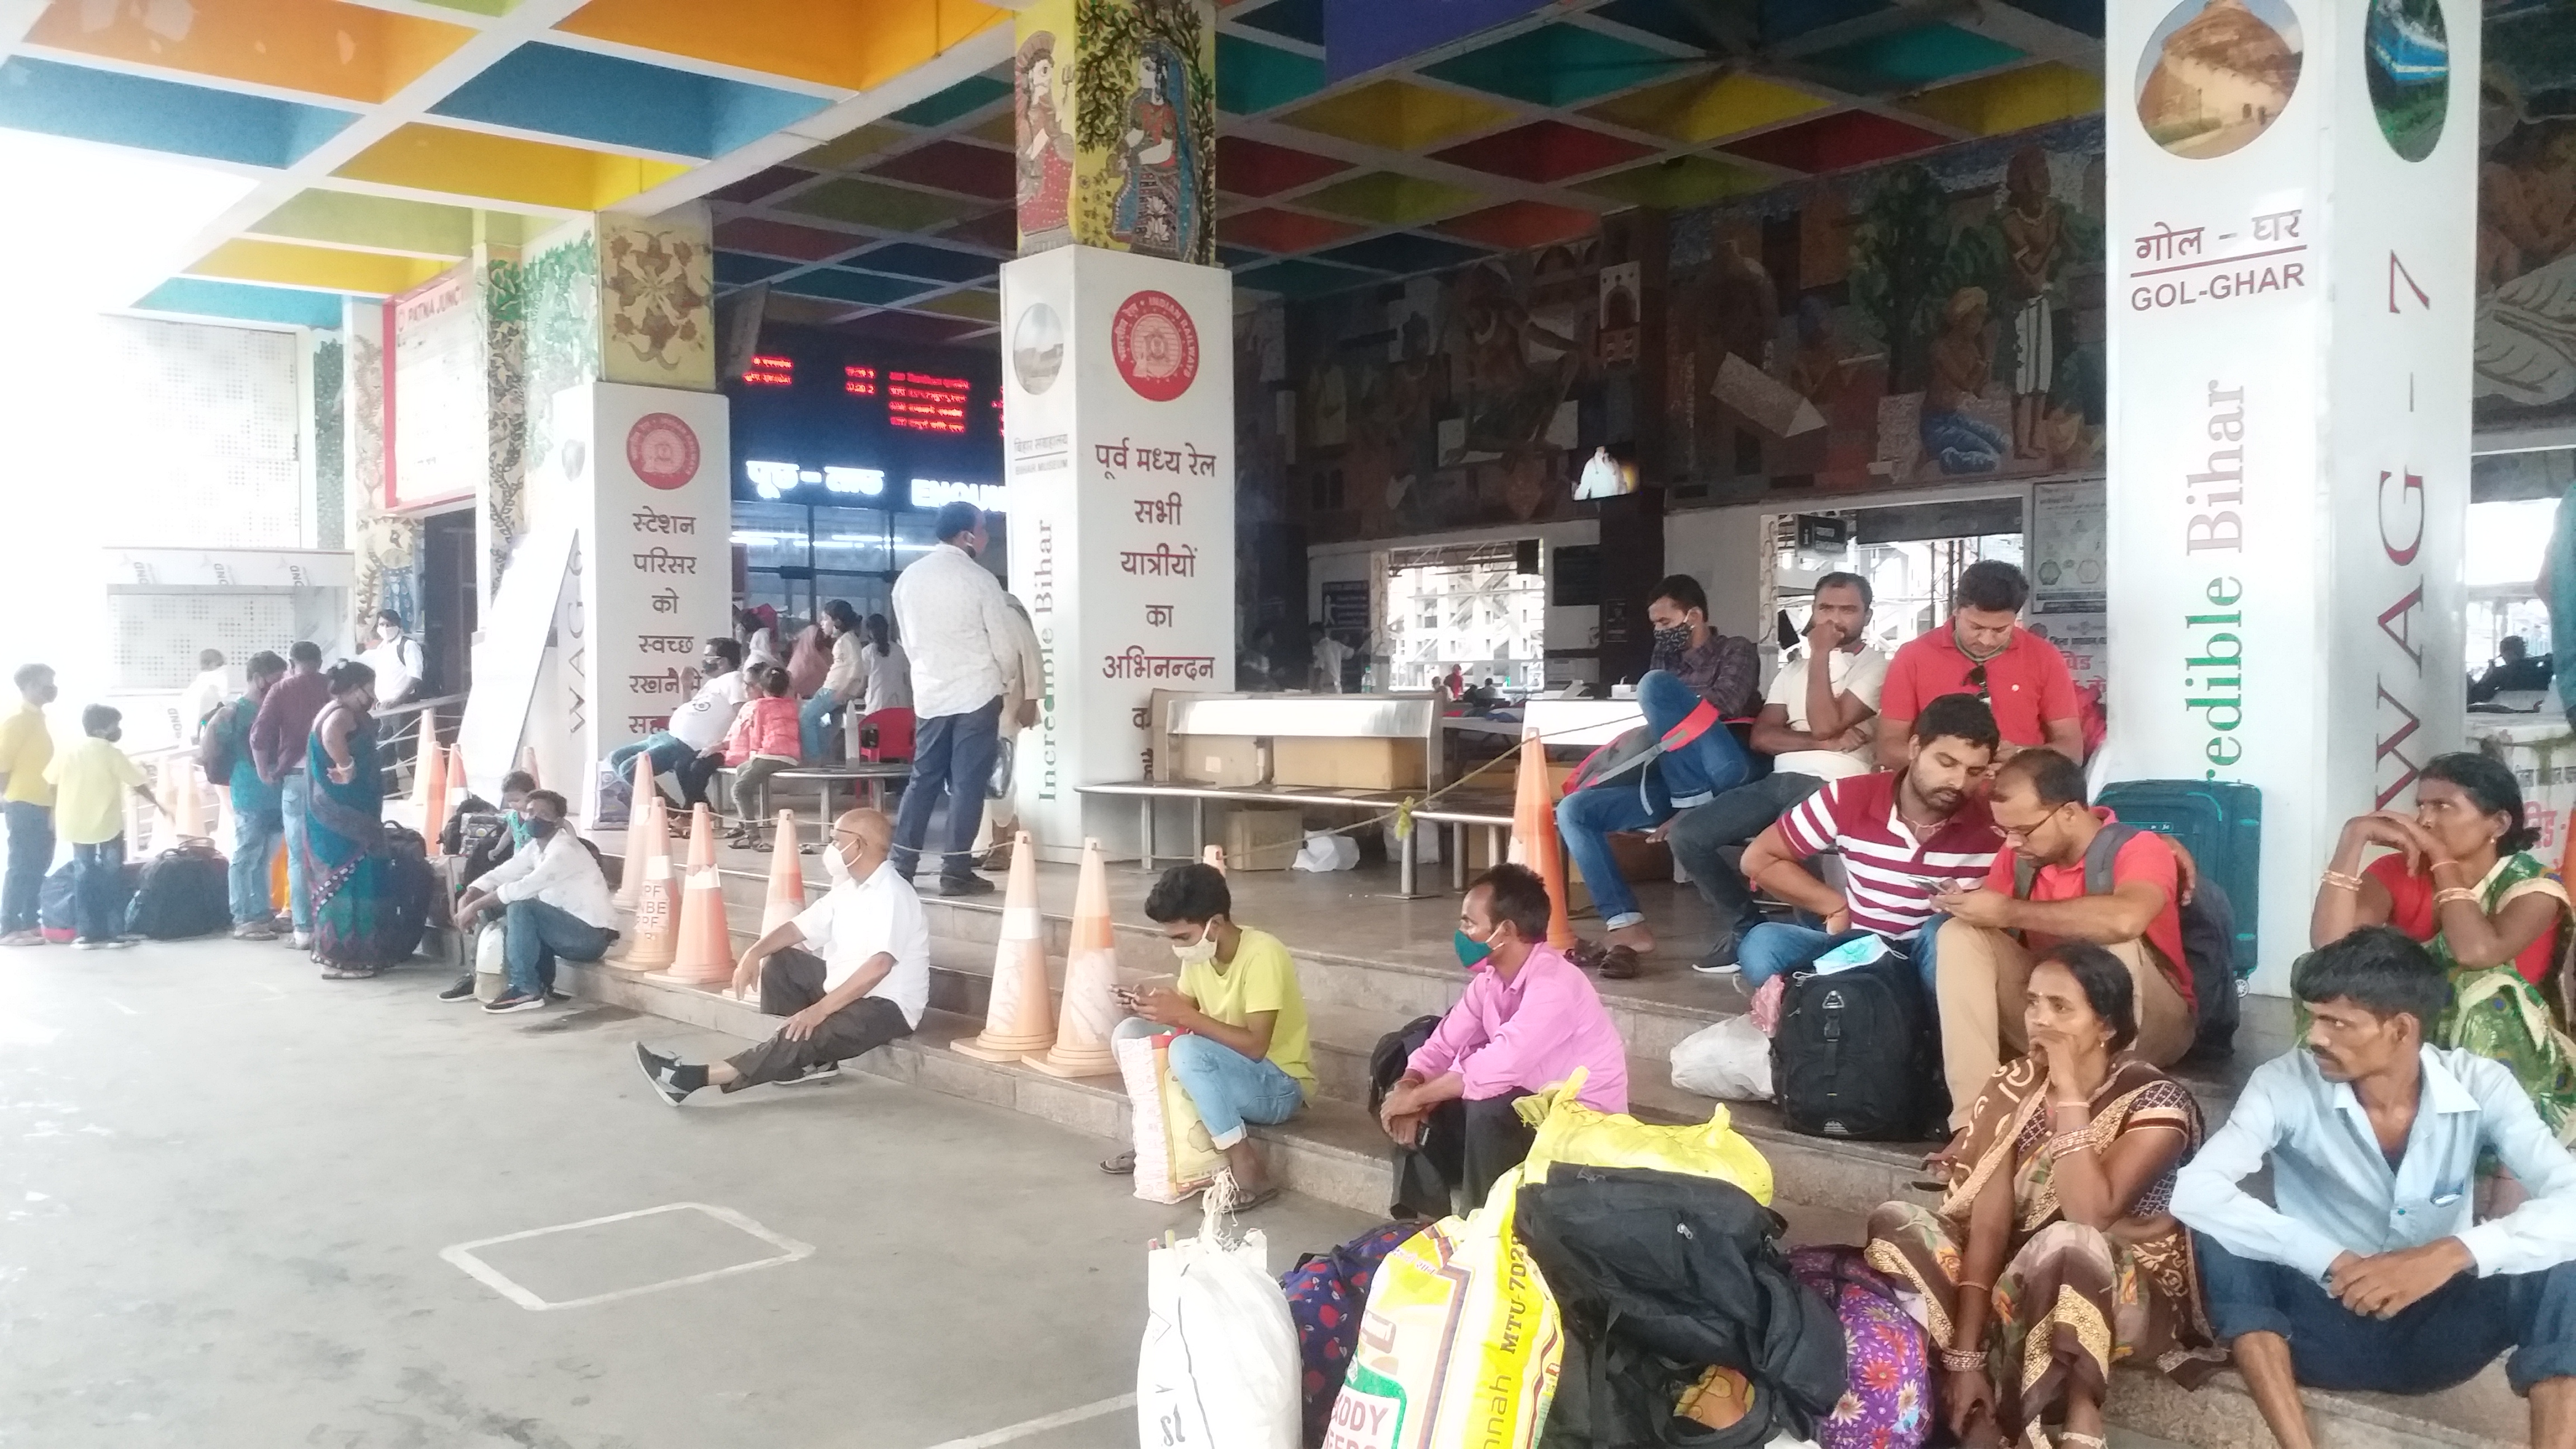
[[[2282,1263],[2239,1258],[2192,1232],[2210,1328],[2290,1341],[2290,1372],[2306,1387],[2429,1395],[2496,1361],[2517,1395],[2576,1377],[2576,1263],[2540,1274],[2460,1274],[2396,1318],[2362,1318],[2318,1281]]]

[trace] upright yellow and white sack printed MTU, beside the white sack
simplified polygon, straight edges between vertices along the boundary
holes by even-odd
[[[1530,1449],[1556,1397],[1564,1328],[1512,1235],[1520,1171],[1468,1217],[1386,1256],[1324,1449]]]

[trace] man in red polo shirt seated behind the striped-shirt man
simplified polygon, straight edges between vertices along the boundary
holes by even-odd
[[[2002,559],[1978,559],[1958,575],[1950,621],[1909,639],[1888,663],[1878,696],[1878,768],[1906,768],[1914,717],[1945,694],[1973,694],[1994,709],[2004,735],[1996,761],[2022,750],[2084,758],[2084,717],[2066,655],[2014,624],[2030,601],[2030,580]]]

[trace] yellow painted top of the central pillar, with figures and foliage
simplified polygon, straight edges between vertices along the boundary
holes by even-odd
[[[1216,263],[1208,0],[1038,0],[1018,15],[1020,250]]]

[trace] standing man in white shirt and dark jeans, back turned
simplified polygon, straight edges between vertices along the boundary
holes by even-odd
[[[912,779],[894,820],[894,869],[912,877],[930,835],[930,812],[948,797],[940,895],[992,895],[974,874],[974,833],[1002,727],[1002,694],[1018,665],[1018,639],[1002,583],[976,562],[984,513],[945,503],[938,544],[894,580],[894,627],[912,650]],[[1018,724],[1038,719],[1038,701],[1020,704]]]

